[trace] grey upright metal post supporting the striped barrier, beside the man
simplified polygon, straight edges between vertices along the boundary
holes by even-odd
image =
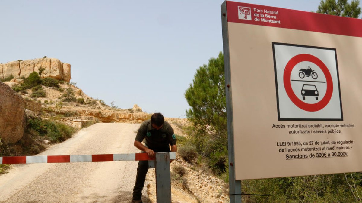
[[[156,201],[171,203],[170,153],[156,153]]]

